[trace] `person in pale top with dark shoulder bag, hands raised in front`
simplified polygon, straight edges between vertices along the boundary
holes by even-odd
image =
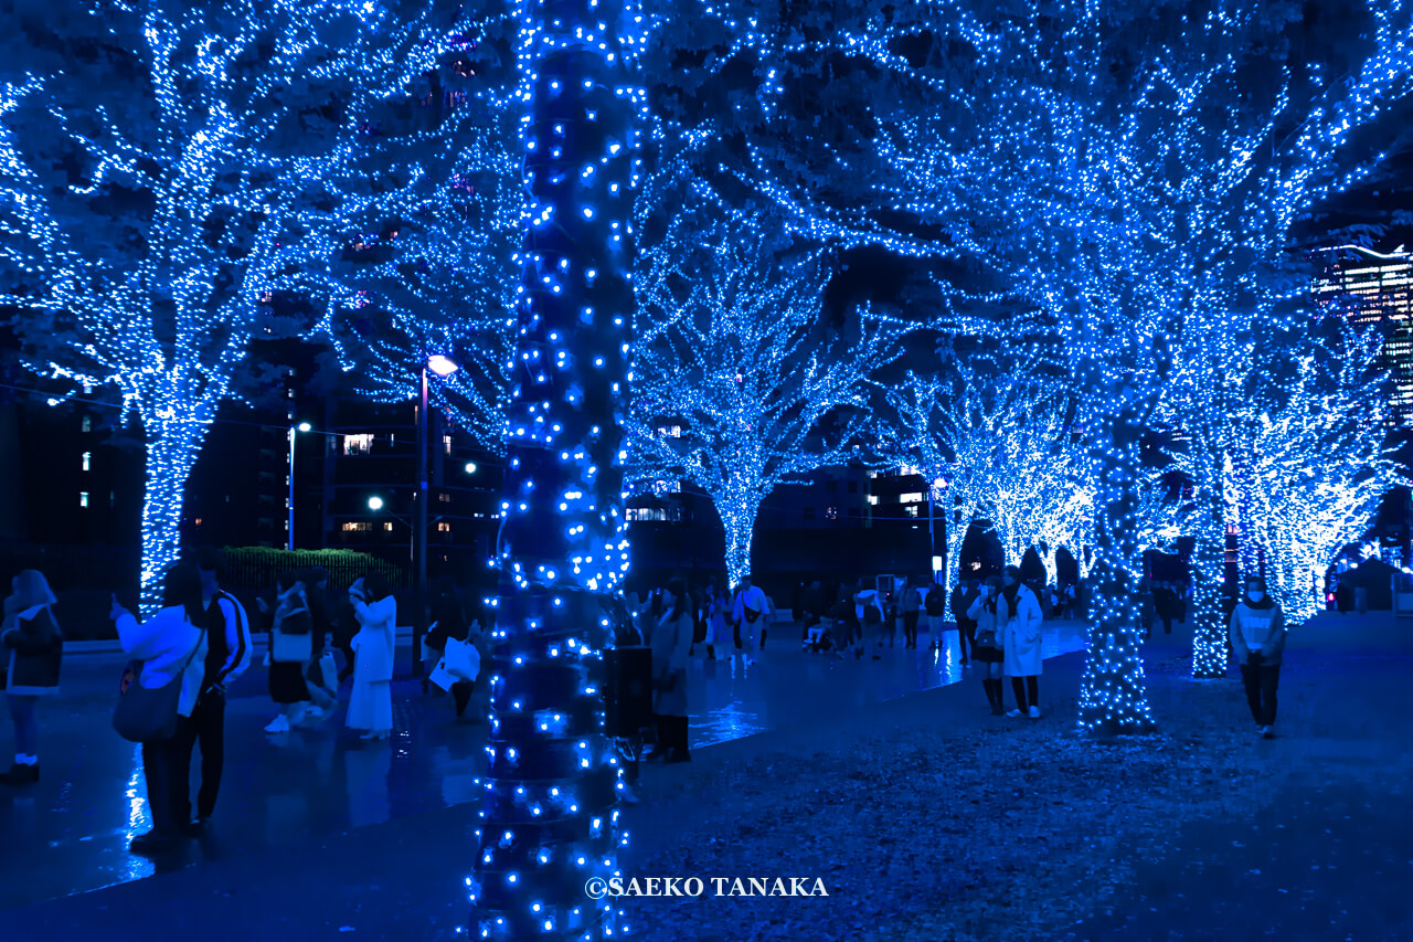
[[[147,690],[172,682],[181,685],[177,733],[170,740],[143,743],[143,777],[153,829],[129,842],[129,850],[137,854],[168,847],[188,825],[191,806],[178,808],[177,802],[178,795],[191,788],[191,740],[195,737],[191,714],[206,676],[206,605],[201,573],[195,566],[172,566],[162,583],[162,608],[146,622],[138,622],[116,598],[110,612],[123,652],[140,665],[136,683]],[[130,682],[131,675],[126,675],[124,683]]]

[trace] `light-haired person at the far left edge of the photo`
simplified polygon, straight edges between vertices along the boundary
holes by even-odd
[[[0,621],[6,700],[14,724],[14,765],[0,775],[4,785],[40,781],[40,700],[59,692],[64,635],[54,618],[48,580],[27,569],[10,580]]]

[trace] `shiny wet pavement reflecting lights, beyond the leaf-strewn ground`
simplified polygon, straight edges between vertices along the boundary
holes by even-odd
[[[781,624],[756,663],[694,659],[694,748],[827,723],[962,679],[955,631],[944,632],[942,652],[926,649],[924,632],[920,649],[885,648],[872,662],[808,653],[797,638],[798,628]],[[1084,646],[1082,625],[1046,624],[1047,658]],[[322,726],[267,735],[263,727],[274,707],[257,666],[230,692],[226,771],[212,833],[168,857],[131,856],[127,842],[150,825],[138,747],[109,724],[120,669],[120,655],[72,656],[62,694],[41,704],[41,782],[0,788],[0,909],[201,866],[218,874],[237,854],[277,857],[281,847],[473,798],[485,728],[455,723],[448,697],[396,682],[390,743],[357,741],[342,727],[342,710]],[[342,696],[346,700],[348,686]],[[0,721],[0,728],[4,750],[10,724]]]

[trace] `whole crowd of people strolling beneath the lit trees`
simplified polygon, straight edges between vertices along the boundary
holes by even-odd
[[[1284,618],[1260,578],[1243,583],[1243,594],[1229,617],[1229,645],[1262,737],[1273,735],[1276,694],[1284,648]],[[1181,601],[1178,586],[1154,587]],[[283,574],[277,590],[257,601],[260,628],[268,634],[266,666],[270,697],[277,714],[266,727],[283,735],[298,726],[328,720],[339,703],[339,685],[352,680],[345,724],[362,740],[386,740],[393,730],[391,679],[396,649],[397,603],[387,580],[377,574],[356,580],[335,600],[322,569]],[[1063,611],[1072,591],[1047,593],[1051,611]],[[1058,597],[1058,603],[1056,603]],[[1180,617],[1164,600],[1164,629]],[[694,590],[674,578],[646,594],[622,598],[623,618],[616,646],[650,651],[650,683],[656,745],[647,758],[687,762],[688,663],[704,649],[708,661],[739,658],[755,663],[766,646],[776,615],[771,600],[747,574],[728,591],[714,584]],[[58,690],[64,636],[54,615],[55,595],[44,576],[25,570],[11,580],[0,624],[0,678],[4,679],[14,726],[16,758],[0,784],[27,785],[40,778],[38,703]],[[955,624],[961,663],[982,668],[981,680],[993,714],[1040,719],[1041,624],[1044,605],[1026,586],[1020,570],[1007,566],[1000,576],[965,578],[944,604],[944,590],[904,581],[886,587],[858,581],[801,586],[793,598],[803,645],[839,658],[880,659],[880,649],[896,646],[901,622],[903,646],[918,645],[918,625],[927,618],[933,648],[945,648],[942,632]],[[252,624],[242,603],[222,587],[222,559],[203,552],[195,563],[172,566],[164,577],[162,604],[140,621],[117,603],[112,605],[123,651],[131,659],[124,670],[114,728],[141,743],[143,772],[153,829],[133,839],[131,850],[151,853],[184,836],[199,835],[216,809],[225,760],[226,692],[250,668]],[[431,603],[432,629],[424,639],[424,661],[435,663],[452,645],[473,648],[475,662],[489,662],[489,632],[442,584]],[[339,670],[333,652],[343,653]],[[447,658],[449,661],[449,658]],[[445,663],[445,661],[444,661]],[[1005,678],[1010,678],[1015,707],[1005,709]],[[455,714],[486,683],[476,672],[445,678]],[[424,682],[424,690],[427,689]],[[489,703],[483,703],[489,706]],[[191,801],[191,761],[201,750],[199,789]],[[195,812],[195,813],[194,813]]]

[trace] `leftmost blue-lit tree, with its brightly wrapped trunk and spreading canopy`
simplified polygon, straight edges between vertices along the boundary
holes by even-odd
[[[28,366],[110,388],[146,437],[143,608],[260,304],[324,256],[367,102],[434,61],[425,11],[28,3],[0,83],[0,301]]]

